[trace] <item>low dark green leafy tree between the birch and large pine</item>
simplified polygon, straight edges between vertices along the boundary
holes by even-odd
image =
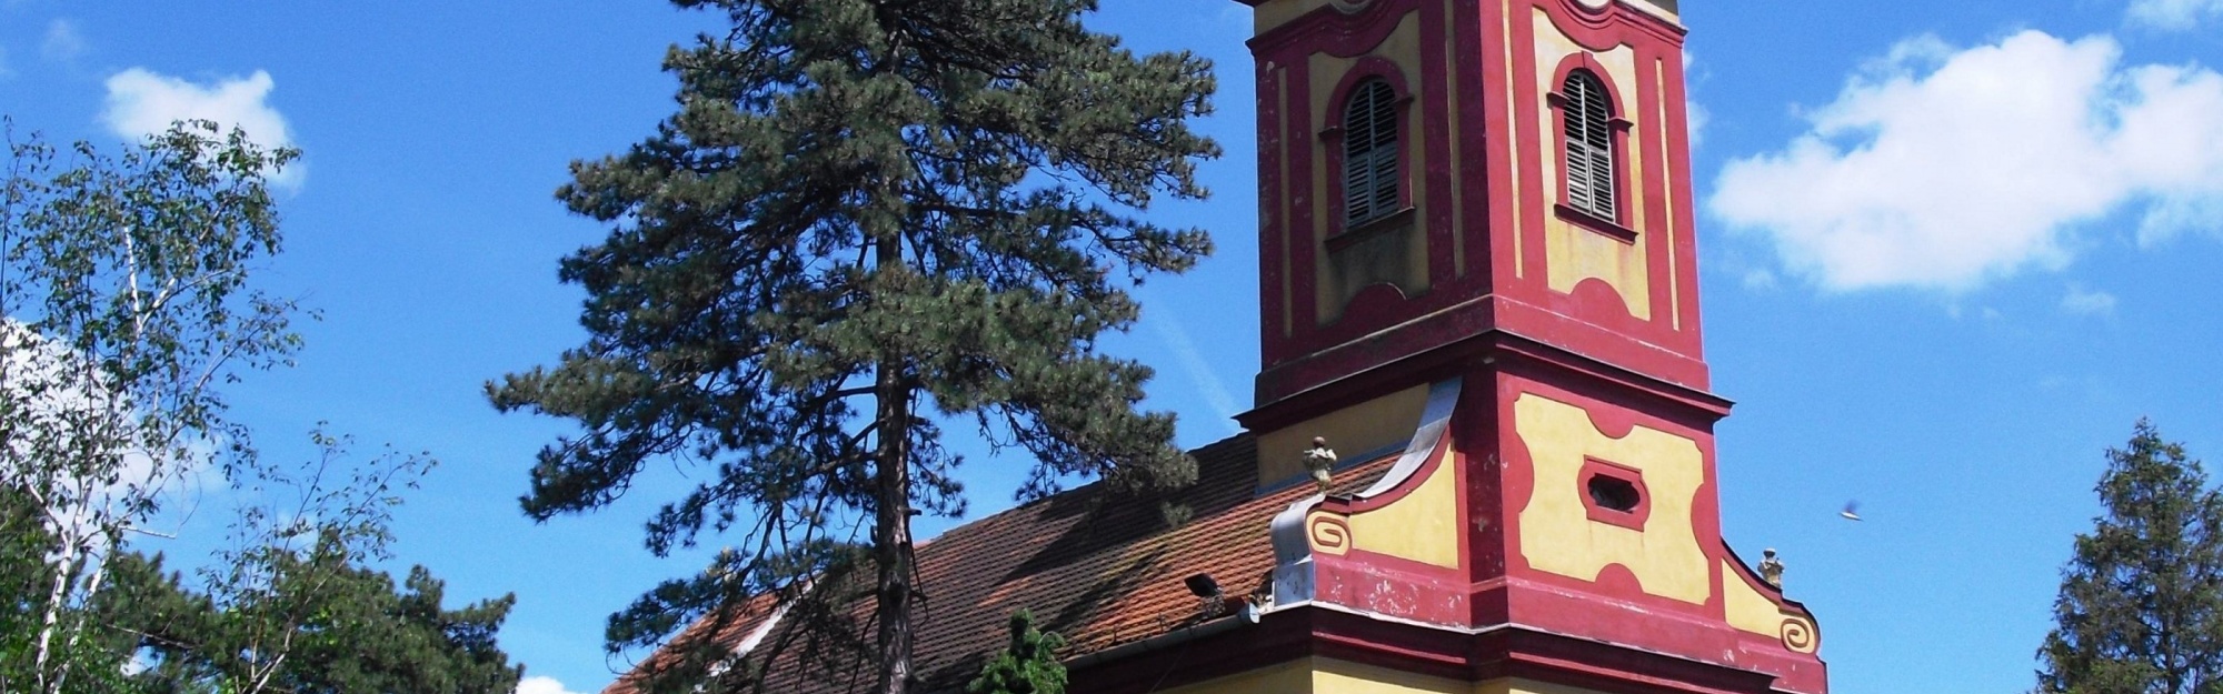
[[[349,463],[347,440],[313,434],[322,456],[260,469],[258,505],[236,514],[231,545],[187,585],[160,558],[133,563],[107,607],[153,663],[153,692],[509,692],[520,667],[494,634],[514,596],[445,609],[442,583],[391,561],[391,512],[431,469],[425,454]],[[247,494],[247,489],[240,489]]]

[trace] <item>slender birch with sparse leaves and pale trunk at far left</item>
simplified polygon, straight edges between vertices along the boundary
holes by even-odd
[[[180,122],[111,158],[9,131],[0,187],[0,480],[51,545],[22,692],[62,692],[124,534],[189,469],[247,458],[218,385],[282,363],[296,307],[258,291],[267,189],[296,158]]]

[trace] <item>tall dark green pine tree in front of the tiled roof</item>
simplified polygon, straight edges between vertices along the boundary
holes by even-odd
[[[805,578],[869,585],[869,618],[789,621],[823,616],[814,634],[905,692],[911,516],[965,509],[943,425],[1029,454],[1023,496],[1194,478],[1174,418],[1136,409],[1152,371],[1096,340],[1136,320],[1129,282],[1209,254],[1136,214],[1205,196],[1194,165],[1218,149],[1187,120],[1212,67],[1085,29],[1094,0],[676,4],[731,29],[674,47],[678,113],[558,191],[611,225],[560,269],[587,289],[589,338],[489,385],[505,412],[582,427],[540,452],[522,505],[545,520],[611,503],[651,460],[711,467],[647,545],[709,529],[738,547],[614,616],[609,647],[751,594],[851,594]]]

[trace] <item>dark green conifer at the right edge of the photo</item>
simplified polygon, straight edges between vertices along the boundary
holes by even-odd
[[[2223,496],[2147,420],[2096,492],[2105,514],[2061,572],[2036,692],[2223,692]]]

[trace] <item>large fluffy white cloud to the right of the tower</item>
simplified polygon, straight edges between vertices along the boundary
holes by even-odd
[[[2119,58],[2105,36],[1901,42],[1783,151],[1723,167],[1709,207],[1825,289],[2058,269],[2079,222],[2125,205],[2143,205],[2141,242],[2212,229],[2223,76]]]

